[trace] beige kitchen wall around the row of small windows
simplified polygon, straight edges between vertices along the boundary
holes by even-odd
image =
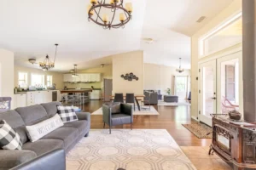
[[[52,76],[52,82],[56,84],[57,89],[62,89],[64,87],[63,85],[63,74],[60,72],[54,72],[54,71],[42,71],[41,69],[33,69],[28,67],[22,67],[19,65],[15,65],[15,85],[13,88],[19,86],[18,82],[18,72],[26,72],[27,73],[27,79],[28,79],[28,86],[31,84],[31,74],[36,73],[40,75],[44,75],[44,82],[46,83],[46,76]]]

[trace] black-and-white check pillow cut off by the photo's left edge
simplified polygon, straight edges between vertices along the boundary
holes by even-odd
[[[0,148],[3,150],[21,150],[20,135],[4,120],[0,120]]]

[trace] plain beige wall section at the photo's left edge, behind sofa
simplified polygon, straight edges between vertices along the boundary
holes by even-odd
[[[0,49],[0,96],[2,97],[14,98],[14,65],[14,53]]]

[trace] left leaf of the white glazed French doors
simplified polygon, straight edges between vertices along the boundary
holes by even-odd
[[[212,127],[212,116],[216,113],[216,59],[199,65],[199,120]]]

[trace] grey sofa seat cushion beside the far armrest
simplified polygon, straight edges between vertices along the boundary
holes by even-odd
[[[42,139],[60,139],[64,141],[65,149],[73,144],[75,139],[79,136],[79,129],[74,127],[60,127],[55,131],[46,134]]]

